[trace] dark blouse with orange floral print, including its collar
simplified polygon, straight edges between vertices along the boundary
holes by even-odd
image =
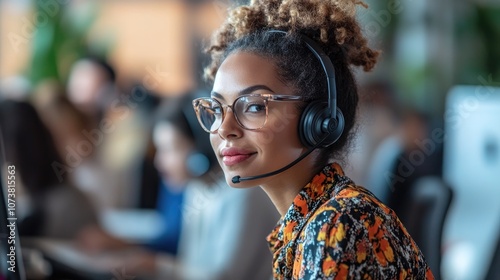
[[[274,279],[434,279],[394,211],[333,163],[267,237]]]

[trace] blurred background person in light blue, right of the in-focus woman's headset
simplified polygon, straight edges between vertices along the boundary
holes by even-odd
[[[349,163],[356,166],[352,169],[357,170],[361,185],[366,185],[384,203],[391,191],[387,174],[402,151],[398,107],[389,82],[369,82],[360,88],[358,147]]]

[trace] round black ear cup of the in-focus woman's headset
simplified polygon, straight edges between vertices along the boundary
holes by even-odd
[[[337,117],[330,118],[331,111],[327,102],[314,101],[309,104],[302,113],[299,124],[299,137],[302,144],[311,148],[321,140],[321,148],[335,143],[344,131],[344,116],[337,108]]]

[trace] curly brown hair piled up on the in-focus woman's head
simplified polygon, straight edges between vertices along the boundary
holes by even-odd
[[[314,54],[299,34],[315,40],[330,57],[337,81],[337,106],[345,117],[341,138],[321,154],[318,165],[331,156],[341,159],[350,139],[358,103],[357,86],[351,66],[370,71],[378,51],[368,47],[355,18],[357,0],[252,0],[248,6],[233,9],[214,34],[207,52],[211,64],[205,78],[213,80],[222,61],[235,51],[246,51],[271,58],[278,75],[297,94],[308,100],[327,100],[326,76]],[[287,36],[268,30],[286,31]]]

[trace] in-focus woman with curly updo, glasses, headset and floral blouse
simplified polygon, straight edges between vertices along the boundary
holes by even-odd
[[[193,105],[226,181],[259,185],[282,216],[268,236],[275,279],[433,279],[394,212],[334,160],[355,122],[350,67],[371,70],[378,55],[358,3],[255,0],[208,49],[212,94]]]

